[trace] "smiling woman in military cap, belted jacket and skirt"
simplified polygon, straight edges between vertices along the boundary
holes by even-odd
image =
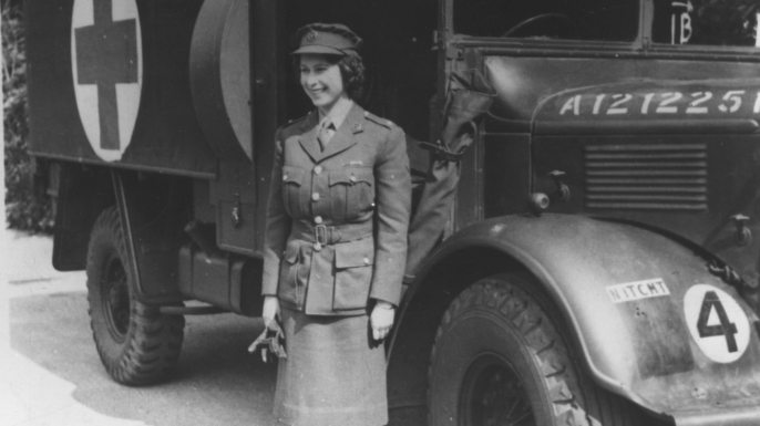
[[[407,257],[405,137],[356,103],[361,39],[341,24],[298,30],[292,52],[315,110],[280,127],[264,258],[264,321],[287,359],[275,414],[287,425],[388,423],[388,335]]]

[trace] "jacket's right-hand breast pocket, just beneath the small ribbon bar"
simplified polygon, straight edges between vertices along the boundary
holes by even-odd
[[[374,202],[371,167],[346,167],[330,172],[331,214],[336,220],[352,220]]]

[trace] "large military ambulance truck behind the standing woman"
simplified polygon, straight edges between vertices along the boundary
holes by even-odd
[[[53,264],[86,270],[97,352],[127,385],[171,377],[184,315],[259,315],[274,134],[310,107],[289,37],[343,22],[366,39],[361,103],[404,128],[415,183],[392,424],[759,425],[759,15],[28,0]]]

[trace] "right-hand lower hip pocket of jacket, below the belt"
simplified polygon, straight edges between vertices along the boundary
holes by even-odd
[[[336,282],[332,294],[335,311],[367,306],[372,282],[374,241],[364,238],[335,246]]]

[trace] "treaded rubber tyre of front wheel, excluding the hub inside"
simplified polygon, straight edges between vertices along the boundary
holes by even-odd
[[[486,311],[509,321],[522,335],[530,356],[543,375],[543,386],[552,401],[554,425],[638,424],[634,422],[639,415],[629,403],[600,389],[583,373],[577,362],[573,361],[569,336],[565,335],[561,326],[555,325],[561,323],[543,308],[548,305],[543,298],[526,290],[530,285],[530,280],[521,274],[503,273],[480,280],[460,293],[443,314],[435,333],[428,370],[429,382],[433,383],[434,366],[440,356],[438,342],[446,330],[468,312]],[[433,397],[432,392],[432,388],[428,389],[429,405]],[[430,409],[428,424],[437,426],[433,420]]]

